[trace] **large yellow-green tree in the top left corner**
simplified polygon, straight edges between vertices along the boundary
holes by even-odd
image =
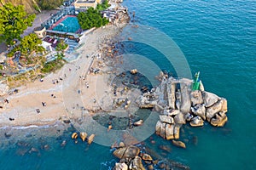
[[[22,5],[14,6],[6,3],[0,8],[0,41],[13,44],[14,39],[21,39],[20,35],[27,26],[32,26],[35,14],[26,14]]]

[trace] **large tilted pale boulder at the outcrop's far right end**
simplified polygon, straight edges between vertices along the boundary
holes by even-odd
[[[224,108],[225,99],[218,99],[218,101],[212,106],[207,108],[207,121],[210,122],[212,117]]]

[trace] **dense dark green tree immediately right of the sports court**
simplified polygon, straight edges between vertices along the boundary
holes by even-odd
[[[82,29],[87,30],[93,27],[101,27],[108,24],[106,18],[102,18],[100,11],[94,8],[88,8],[86,12],[78,14],[79,25]]]

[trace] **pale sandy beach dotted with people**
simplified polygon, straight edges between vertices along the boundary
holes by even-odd
[[[17,88],[19,93],[5,96],[9,103],[0,111],[0,127],[54,124],[99,108],[101,94],[111,90],[108,74],[88,72],[91,67],[102,66],[102,59],[96,56],[102,55],[104,43],[111,42],[124,26],[108,25],[90,32],[81,38],[84,45],[74,52],[78,59],[44,77],[43,82],[28,83]]]

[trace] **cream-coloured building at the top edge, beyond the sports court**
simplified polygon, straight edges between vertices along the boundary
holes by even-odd
[[[77,11],[82,11],[90,7],[96,8],[98,3],[102,3],[102,0],[76,0],[73,6]]]

